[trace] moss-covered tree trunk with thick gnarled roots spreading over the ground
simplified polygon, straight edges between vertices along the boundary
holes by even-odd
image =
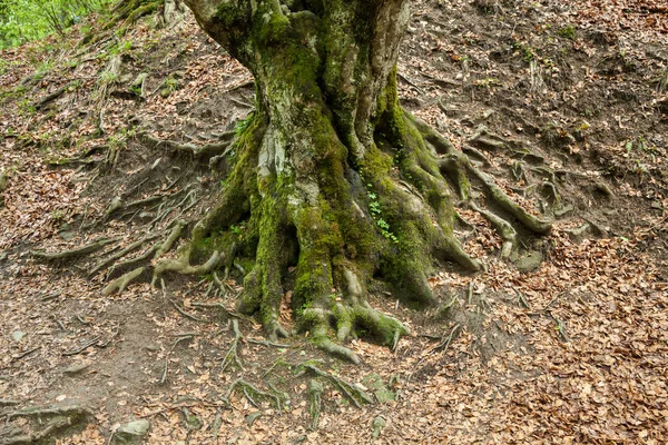
[[[430,306],[436,303],[428,283],[434,259],[482,268],[453,236],[456,199],[490,219],[504,255],[517,237],[511,220],[537,234],[550,230],[401,107],[396,61],[409,0],[186,3],[253,73],[256,110],[240,126],[216,206],[178,259],[161,260],[155,276],[254,257],[240,310],[259,313],[269,337],[277,337],[288,334],[278,308],[295,266],[292,305],[301,328],[322,349],[357,363],[342,345],[360,328],[390,346],[407,333],[366,301],[373,279],[407,304]],[[483,184],[510,218],[478,207],[469,179]],[[239,225],[244,237],[235,235]]]

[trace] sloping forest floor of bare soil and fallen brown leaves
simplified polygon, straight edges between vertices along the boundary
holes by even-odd
[[[139,134],[203,145],[252,109],[248,72],[188,14],[1,52],[0,444],[108,444],[132,419],[149,444],[666,443],[668,11],[605,3],[414,2],[402,102],[554,228],[502,261],[461,209],[487,270],[443,265],[441,317],[371,296],[412,334],[394,352],[353,340],[358,366],[304,335],[263,343],[234,312],[238,271],[102,295],[105,258],[196,219],[222,186]]]

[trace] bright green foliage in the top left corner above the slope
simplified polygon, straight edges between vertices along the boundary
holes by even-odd
[[[84,16],[99,11],[110,0],[0,0],[0,49],[63,34]]]

